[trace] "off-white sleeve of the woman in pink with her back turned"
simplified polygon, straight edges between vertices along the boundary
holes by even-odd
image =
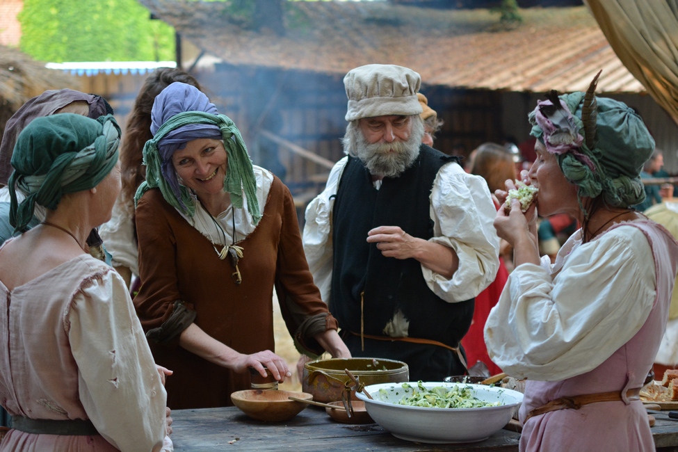
[[[122,278],[81,289],[67,315],[80,401],[99,433],[122,451],[171,451],[167,395]]]

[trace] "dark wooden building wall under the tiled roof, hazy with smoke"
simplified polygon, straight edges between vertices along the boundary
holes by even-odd
[[[252,161],[268,168],[290,188],[300,222],[309,200],[324,187],[332,163],[344,156],[346,92],[343,78],[279,68],[216,65],[194,74],[220,112],[232,118]],[[81,90],[103,95],[123,127],[148,74],[81,76]],[[487,141],[519,144],[529,138],[527,114],[541,96],[533,93],[453,90],[423,86],[431,108],[444,120],[435,147],[467,156]],[[637,108],[665,150],[665,169],[678,172],[678,126],[647,95],[613,96]],[[290,148],[320,157],[309,160]]]

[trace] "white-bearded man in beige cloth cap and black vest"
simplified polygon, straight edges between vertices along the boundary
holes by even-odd
[[[417,72],[344,77],[348,156],[306,210],[304,250],[353,357],[406,362],[410,380],[466,371],[460,340],[499,266],[490,191],[421,143]]]

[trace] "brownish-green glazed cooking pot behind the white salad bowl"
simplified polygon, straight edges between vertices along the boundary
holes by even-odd
[[[346,385],[353,385],[344,369],[353,373],[365,386],[410,380],[410,368],[402,361],[381,358],[332,358],[315,360],[304,365],[301,382],[303,392],[313,394],[313,400],[318,402],[340,401]],[[353,393],[351,398],[357,400]]]

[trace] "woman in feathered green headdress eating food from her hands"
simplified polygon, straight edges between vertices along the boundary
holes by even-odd
[[[515,270],[485,341],[501,369],[527,379],[522,451],[654,451],[639,394],[668,319],[678,243],[630,207],[645,197],[652,136],[631,108],[594,90],[595,80],[586,95],[552,91],[538,102],[537,160],[522,174],[539,189],[536,204],[522,212],[512,200],[494,220]],[[537,210],[582,225],[553,265],[538,254]]]

